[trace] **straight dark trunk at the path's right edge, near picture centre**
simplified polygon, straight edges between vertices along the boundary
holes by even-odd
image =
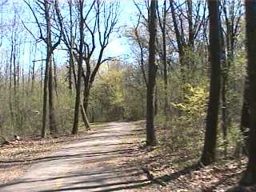
[[[155,62],[156,54],[156,35],[157,35],[157,0],[150,2],[150,43],[149,43],[149,63],[148,63],[148,86],[146,89],[146,145],[154,146],[156,138],[154,133],[154,88],[155,78],[157,74],[157,66]]]

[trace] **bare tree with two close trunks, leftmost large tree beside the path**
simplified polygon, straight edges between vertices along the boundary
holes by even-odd
[[[49,0],[37,1],[36,4],[39,7],[39,10],[42,10],[45,23],[39,22],[39,18],[35,13],[30,3],[24,0],[27,6],[29,6],[32,14],[34,15],[34,19],[38,26],[39,38],[45,42],[46,44],[46,68],[45,68],[45,78],[44,78],[44,88],[43,88],[43,112],[42,112],[42,137],[46,136],[46,114],[47,114],[47,102],[49,102],[49,126],[50,126],[50,134],[57,134],[57,123],[55,117],[55,108],[54,108],[54,75],[53,75],[53,66],[52,66],[52,54],[57,46],[60,44],[62,39],[62,30],[59,30],[59,34],[57,35],[57,39],[53,42],[52,35],[55,34],[52,27],[52,14],[54,14],[54,10],[58,7],[58,0],[51,2]],[[53,10],[52,8],[55,7]],[[25,26],[26,27],[26,26]],[[46,27],[46,29],[43,29]],[[26,30],[28,30],[26,28]],[[45,35],[44,30],[46,31]],[[31,33],[30,30],[28,30]],[[32,34],[34,36],[34,34]]]

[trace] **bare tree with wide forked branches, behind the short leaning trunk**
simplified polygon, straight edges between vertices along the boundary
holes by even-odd
[[[83,108],[86,112],[89,104],[90,88],[94,83],[95,76],[102,64],[112,58],[104,58],[103,54],[110,42],[110,37],[114,33],[115,26],[118,22],[119,3],[115,2],[94,2],[94,19],[91,25],[85,22],[86,30],[90,35],[90,42],[85,42],[85,53],[83,60],[86,63],[86,70],[82,73],[84,90],[83,90]],[[87,14],[89,15],[89,14]],[[86,18],[88,16],[86,15]],[[86,21],[86,18],[84,19]],[[103,27],[102,27],[103,26]],[[96,39],[98,38],[98,39]],[[96,43],[98,41],[99,51],[96,56],[94,67],[92,67],[92,56],[95,54]],[[85,118],[84,118],[85,121]],[[89,124],[88,124],[89,126]]]

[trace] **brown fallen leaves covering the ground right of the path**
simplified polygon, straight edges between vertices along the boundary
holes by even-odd
[[[212,166],[191,166],[198,162],[198,154],[190,154],[186,149],[174,153],[168,146],[142,147],[142,135],[140,138],[130,138],[126,142],[134,142],[136,153],[126,158],[124,166],[141,166],[150,170],[154,178],[162,179],[166,186],[152,184],[136,191],[176,191],[199,192],[212,191],[256,191],[254,190],[230,190],[237,186],[246,169],[247,158],[219,160]]]

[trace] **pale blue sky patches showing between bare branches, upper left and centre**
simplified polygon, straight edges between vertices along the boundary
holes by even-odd
[[[2,2],[4,0],[0,0]],[[43,21],[43,14],[36,7],[35,1],[30,1],[32,8],[36,14],[40,15],[40,22]],[[106,3],[113,2],[116,0],[106,0]],[[62,1],[60,1],[62,2]],[[64,1],[63,1],[64,2]],[[89,2],[89,1],[87,1]],[[106,51],[104,57],[114,57],[114,58],[122,58],[126,59],[126,62],[130,60],[132,62],[132,54],[130,50],[129,39],[126,38],[126,30],[134,25],[134,21],[136,19],[137,8],[134,6],[134,2],[132,0],[119,0],[119,16],[118,23],[116,26],[115,33],[112,34],[110,38],[110,43],[106,47]],[[0,4],[1,5],[1,4]],[[62,5],[60,5],[62,6]],[[66,17],[68,15],[68,9],[62,6],[62,14]],[[23,1],[18,0],[8,0],[3,6],[0,7],[1,10],[1,33],[4,35],[2,37],[2,44],[0,46],[0,50],[5,52],[5,54],[10,54],[11,50],[11,42],[12,42],[12,34],[14,34],[14,26],[17,26],[16,36],[17,42],[19,43],[19,54],[20,57],[19,62],[21,66],[24,67],[24,70],[29,70],[29,67],[34,60],[42,60],[42,58],[46,57],[46,45],[42,41],[38,41],[39,32],[38,26],[35,23],[34,16],[30,11],[29,7]],[[16,18],[15,18],[16,17]],[[3,19],[4,18],[4,19]],[[28,32],[24,26],[30,32]],[[22,30],[21,30],[22,29]],[[33,34],[33,35],[31,35]],[[1,34],[0,34],[1,35]],[[33,37],[34,36],[34,37]],[[97,46],[97,45],[96,45]],[[54,58],[57,62],[58,66],[64,65],[68,61],[68,57],[66,54],[65,45],[61,44],[58,47],[58,50],[54,51]],[[95,57],[97,57],[98,50],[95,50]],[[3,57],[3,56],[2,56]],[[5,56],[6,57],[6,56]],[[6,60],[6,62],[8,62]],[[1,65],[6,65],[5,63],[1,63]],[[42,65],[42,62],[36,62],[35,66],[39,69]]]

